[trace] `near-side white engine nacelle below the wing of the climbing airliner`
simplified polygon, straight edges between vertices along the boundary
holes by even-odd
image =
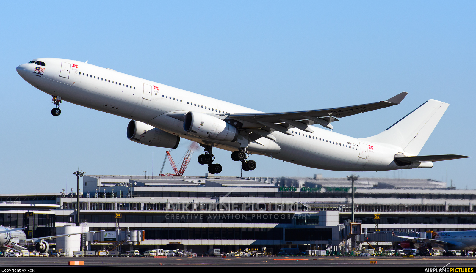
[[[204,113],[188,112],[183,121],[185,132],[215,140],[236,141],[238,129],[218,117]]]

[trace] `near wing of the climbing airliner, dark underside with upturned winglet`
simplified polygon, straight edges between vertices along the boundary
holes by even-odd
[[[330,123],[338,121],[337,117],[347,117],[397,105],[405,98],[405,96],[407,96],[407,94],[407,92],[402,92],[387,100],[354,106],[281,113],[230,114],[228,117],[231,119],[237,119],[238,121],[243,121],[244,124],[253,123],[261,125],[261,127],[270,127],[289,135],[291,133],[287,132],[287,129],[294,127],[313,133],[308,125],[319,124],[329,129],[333,129]]]

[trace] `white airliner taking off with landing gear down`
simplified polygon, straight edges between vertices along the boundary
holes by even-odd
[[[459,155],[418,156],[448,107],[429,99],[376,136],[354,138],[323,128],[331,122],[399,104],[402,92],[387,100],[348,107],[263,113],[212,97],[69,59],[40,58],[17,67],[20,76],[51,95],[60,115],[62,100],[131,119],[130,140],[176,148],[180,137],[198,142],[198,156],[208,172],[218,174],[213,147],[232,151],[243,170],[254,170],[250,154],[270,156],[301,166],[336,171],[387,171],[431,168],[434,161]]]

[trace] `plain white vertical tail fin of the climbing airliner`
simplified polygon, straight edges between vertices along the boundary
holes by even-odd
[[[398,146],[417,156],[448,106],[445,102],[429,99],[382,133],[363,139]]]

